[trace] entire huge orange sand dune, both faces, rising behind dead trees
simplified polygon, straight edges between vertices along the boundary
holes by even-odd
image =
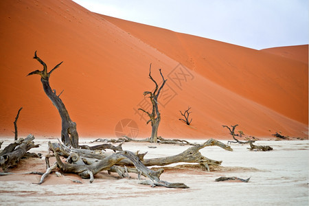
[[[52,69],[50,84],[77,123],[80,137],[113,137],[117,123],[133,119],[138,137],[150,125],[137,108],[143,92],[168,79],[159,98],[159,135],[230,138],[222,124],[258,137],[275,131],[308,137],[308,62],[121,21],[69,0],[0,1],[0,134],[60,136],[60,117],[43,92],[34,51]],[[180,63],[182,65],[180,65]],[[179,110],[192,106],[192,126]],[[122,122],[124,123],[124,122]],[[134,129],[135,126],[133,126]],[[126,128],[127,129],[127,128]],[[127,132],[127,130],[125,130]]]

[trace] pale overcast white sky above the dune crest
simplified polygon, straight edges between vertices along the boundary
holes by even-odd
[[[309,0],[73,0],[119,19],[253,49],[309,43]]]

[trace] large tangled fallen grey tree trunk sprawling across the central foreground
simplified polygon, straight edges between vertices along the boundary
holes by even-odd
[[[59,141],[60,142],[60,141]],[[179,155],[173,155],[170,157],[144,159],[146,153],[139,154],[130,151],[121,151],[117,153],[98,152],[98,150],[76,149],[68,148],[61,143],[49,142],[49,150],[54,152],[56,157],[56,163],[49,167],[47,165],[47,171],[42,176],[40,184],[43,183],[45,177],[57,167],[62,172],[76,173],[82,176],[82,178],[89,178],[90,182],[93,182],[93,176],[102,170],[108,170],[110,172],[117,172],[120,177],[129,176],[128,172],[137,173],[138,176],[146,176],[148,180],[142,181],[143,184],[173,188],[187,188],[187,185],[183,183],[169,183],[167,181],[161,181],[160,175],[164,169],[161,168],[157,171],[150,170],[147,166],[152,165],[169,165],[171,163],[199,163],[203,165],[205,169],[209,171],[209,165],[220,165],[222,161],[215,161],[208,159],[201,155],[198,150],[205,148],[206,146],[219,146],[225,150],[231,151],[231,147],[222,144],[215,139],[209,139],[204,144],[196,144],[191,148],[188,148]],[[67,163],[64,163],[60,159],[60,155],[67,158]]]

